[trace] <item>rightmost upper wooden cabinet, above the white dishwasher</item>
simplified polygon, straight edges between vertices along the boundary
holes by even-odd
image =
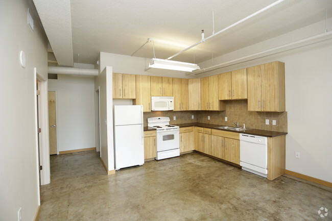
[[[248,110],[285,111],[284,63],[276,61],[247,69]]]

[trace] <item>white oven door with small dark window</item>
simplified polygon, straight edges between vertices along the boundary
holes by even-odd
[[[157,130],[157,152],[180,148],[180,130]]]

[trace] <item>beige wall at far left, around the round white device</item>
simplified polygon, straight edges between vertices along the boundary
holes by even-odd
[[[33,13],[34,31],[27,24]],[[47,39],[31,0],[1,1],[0,7],[0,220],[33,220],[39,202],[34,67],[47,79]],[[23,50],[27,66],[19,64]]]

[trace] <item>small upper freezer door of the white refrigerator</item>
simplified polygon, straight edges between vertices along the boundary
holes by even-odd
[[[114,105],[114,126],[143,124],[142,105]]]

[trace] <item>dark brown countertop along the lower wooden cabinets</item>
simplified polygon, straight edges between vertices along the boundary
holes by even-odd
[[[196,126],[196,127],[210,128],[210,129],[221,130],[221,131],[229,131],[229,132],[234,132],[234,133],[239,133],[239,134],[251,134],[251,135],[257,135],[257,136],[264,136],[264,137],[277,137],[277,136],[287,134],[286,132],[265,131],[265,130],[258,130],[258,129],[248,129],[245,131],[231,131],[231,130],[227,130],[227,129],[218,128],[223,125],[203,124],[203,123],[199,123],[199,122],[186,123],[186,124],[173,124],[173,125],[179,126],[180,128]],[[150,131],[150,130],[156,130],[156,129],[150,128],[150,127],[144,127],[144,131]]]

